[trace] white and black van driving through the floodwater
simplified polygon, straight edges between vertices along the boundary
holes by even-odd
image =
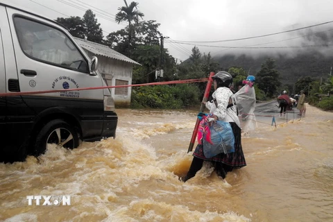
[[[10,96],[12,92],[106,86],[60,24],[0,3],[0,162],[40,155],[47,144],[115,137],[117,114],[109,89]]]

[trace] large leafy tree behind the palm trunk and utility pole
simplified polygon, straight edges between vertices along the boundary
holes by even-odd
[[[140,21],[133,24],[136,35],[131,40],[131,49],[135,46],[131,58],[142,64],[133,70],[133,83],[151,83],[155,81],[155,69],[160,63],[160,31],[158,24],[154,20]],[[119,53],[128,52],[128,26],[107,36],[107,44]],[[167,49],[163,50],[164,57],[164,77],[163,80],[174,80],[176,76],[176,62],[173,56],[169,55]]]

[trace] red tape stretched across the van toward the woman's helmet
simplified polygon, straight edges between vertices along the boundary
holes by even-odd
[[[85,87],[78,89],[58,89],[58,90],[41,90],[41,91],[30,91],[30,92],[6,92],[0,93],[0,96],[23,96],[23,95],[33,95],[33,94],[46,94],[53,92],[69,92],[69,91],[82,91],[82,90],[93,90],[93,89],[110,89],[119,87],[137,87],[145,85],[169,85],[169,84],[179,84],[179,83],[200,83],[207,82],[208,78],[197,78],[188,80],[172,80],[167,82],[157,82],[157,83],[143,83],[143,84],[133,84],[133,85],[114,85],[114,86],[101,86],[101,87]]]

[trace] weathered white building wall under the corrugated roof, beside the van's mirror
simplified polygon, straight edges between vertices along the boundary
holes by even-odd
[[[128,81],[128,85],[132,84],[133,64],[121,60],[115,60],[105,56],[94,55],[93,53],[85,50],[89,58],[96,56],[99,59],[99,72],[102,74],[108,85],[116,85],[116,79]],[[111,88],[111,94],[114,103],[118,107],[128,107],[130,105],[130,95],[132,87],[128,87],[127,95],[114,94],[115,88]]]

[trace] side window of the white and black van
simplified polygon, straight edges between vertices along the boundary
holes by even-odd
[[[14,18],[22,51],[29,58],[87,73],[87,62],[65,33],[22,17]]]

